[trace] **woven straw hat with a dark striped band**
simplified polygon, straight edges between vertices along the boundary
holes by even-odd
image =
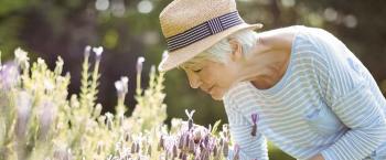
[[[160,13],[169,54],[159,71],[167,72],[210,49],[222,39],[261,23],[247,24],[239,17],[235,0],[174,0]]]

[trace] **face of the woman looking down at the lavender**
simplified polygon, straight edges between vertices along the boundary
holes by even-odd
[[[201,88],[210,94],[213,99],[222,100],[224,94],[229,89],[236,79],[236,65],[228,63],[203,60],[186,65],[184,68],[192,88]]]

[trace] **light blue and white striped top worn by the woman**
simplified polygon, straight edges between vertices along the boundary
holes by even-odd
[[[240,82],[223,97],[240,159],[268,159],[267,138],[296,159],[386,160],[386,100],[371,73],[329,32],[292,28],[283,77],[269,89]]]

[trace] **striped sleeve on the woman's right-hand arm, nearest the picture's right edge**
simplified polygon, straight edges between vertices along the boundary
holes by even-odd
[[[386,118],[374,93],[374,83],[363,64],[330,33],[310,34],[319,50],[315,73],[321,93],[340,120],[349,127],[337,141],[323,150],[326,160],[360,160],[386,141]]]

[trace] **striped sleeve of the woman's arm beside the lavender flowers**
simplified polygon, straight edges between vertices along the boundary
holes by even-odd
[[[251,136],[251,124],[235,108],[233,99],[224,100],[225,110],[229,121],[230,137],[239,149],[240,160],[268,160],[266,138],[257,132]],[[229,150],[228,159],[233,159],[234,151]]]

